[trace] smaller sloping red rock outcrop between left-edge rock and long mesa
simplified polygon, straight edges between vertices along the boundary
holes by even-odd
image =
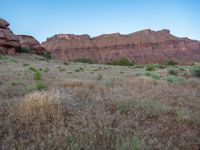
[[[40,45],[40,43],[32,36],[18,35],[21,48],[30,49],[32,53],[42,55],[46,52],[46,49]]]

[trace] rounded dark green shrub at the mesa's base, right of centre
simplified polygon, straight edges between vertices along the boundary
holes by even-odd
[[[133,66],[135,64],[135,62],[128,58],[119,58],[119,59],[113,60],[107,64],[108,65],[118,65],[118,66]]]

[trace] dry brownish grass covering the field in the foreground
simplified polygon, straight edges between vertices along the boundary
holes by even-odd
[[[43,73],[46,91],[31,93],[23,91],[34,83],[32,73],[0,74],[0,149],[199,148],[198,79],[169,83],[104,73],[96,80],[55,70]],[[20,84],[8,83],[11,77]]]

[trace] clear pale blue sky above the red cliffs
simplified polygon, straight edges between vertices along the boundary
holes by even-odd
[[[55,34],[108,33],[169,29],[200,40],[199,0],[1,0],[0,18],[15,34],[40,42]]]

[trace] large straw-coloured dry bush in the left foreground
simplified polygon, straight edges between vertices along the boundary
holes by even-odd
[[[13,108],[15,116],[25,123],[56,123],[61,117],[60,101],[50,92],[34,92],[25,96]]]

